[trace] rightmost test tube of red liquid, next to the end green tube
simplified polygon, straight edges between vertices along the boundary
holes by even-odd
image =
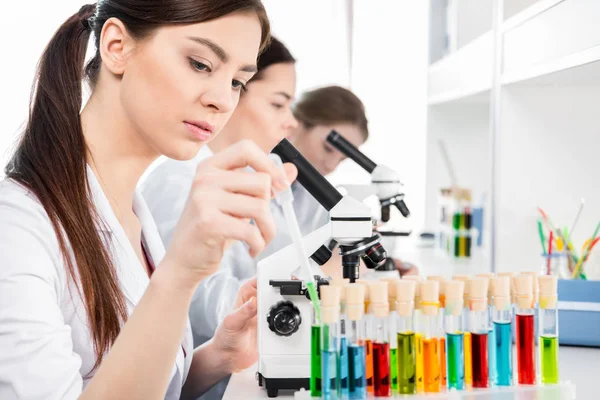
[[[531,275],[515,278],[517,325],[517,377],[521,385],[535,384],[535,338],[533,280]]]

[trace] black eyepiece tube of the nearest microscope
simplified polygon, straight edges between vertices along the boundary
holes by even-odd
[[[298,169],[296,179],[327,211],[331,211],[342,200],[342,195],[293,144],[283,139],[271,150],[271,153],[281,157],[281,161],[292,163]]]

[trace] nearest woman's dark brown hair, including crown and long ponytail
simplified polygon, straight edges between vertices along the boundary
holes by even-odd
[[[85,302],[97,357],[92,370],[127,319],[110,250],[97,230],[101,221],[87,180],[80,119],[82,81],[86,78],[93,87],[99,78],[102,27],[118,18],[134,38],[144,39],[163,25],[205,22],[234,12],[256,13],[264,49],[270,26],[260,0],[101,0],[63,23],[40,59],[28,122],[6,174],[37,196],[52,222],[68,274]],[[92,33],[96,53],[84,68]]]

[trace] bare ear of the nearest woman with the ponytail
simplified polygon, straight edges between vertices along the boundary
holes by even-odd
[[[129,55],[134,49],[135,41],[127,28],[117,18],[109,18],[100,34],[100,55],[102,63],[115,75],[125,73]]]

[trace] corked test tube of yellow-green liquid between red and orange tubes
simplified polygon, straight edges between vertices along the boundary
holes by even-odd
[[[396,283],[396,330],[398,343],[398,393],[417,392],[414,300],[417,282],[403,279]]]

